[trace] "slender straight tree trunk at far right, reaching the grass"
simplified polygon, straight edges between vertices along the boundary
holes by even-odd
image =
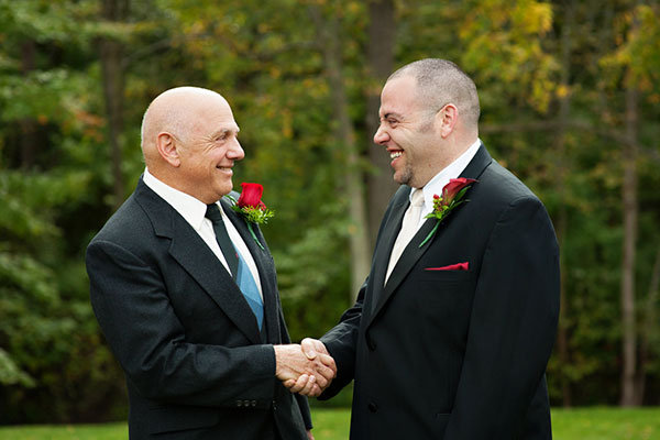
[[[630,73],[628,73],[630,75]],[[628,78],[630,80],[630,78]],[[626,138],[624,144],[623,166],[624,182],[622,189],[624,216],[624,243],[622,264],[622,352],[624,367],[622,371],[622,406],[634,406],[635,374],[637,358],[637,336],[635,324],[635,251],[637,243],[637,130],[638,130],[638,94],[628,81],[626,89]]]

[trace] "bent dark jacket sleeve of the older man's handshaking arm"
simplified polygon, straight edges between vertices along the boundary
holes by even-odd
[[[249,399],[270,407],[276,380],[272,345],[188,342],[158,270],[117,243],[92,241],[87,272],[101,330],[144,397],[227,407]]]

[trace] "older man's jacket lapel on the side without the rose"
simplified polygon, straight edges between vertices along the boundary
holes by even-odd
[[[250,341],[261,343],[252,309],[216,254],[190,224],[142,179],[135,193],[139,202],[154,224],[156,235],[170,240],[172,257],[186,270]]]

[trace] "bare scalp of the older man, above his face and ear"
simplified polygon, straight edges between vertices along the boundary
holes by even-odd
[[[209,102],[218,100],[229,107],[220,94],[200,87],[176,87],[158,95],[142,118],[141,146],[146,166],[153,167],[160,158],[156,150],[160,133],[187,142]]]

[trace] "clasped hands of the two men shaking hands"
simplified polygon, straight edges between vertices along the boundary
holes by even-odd
[[[305,338],[299,345],[274,348],[275,376],[292,393],[317,397],[337,376],[334,360],[317,339]]]

